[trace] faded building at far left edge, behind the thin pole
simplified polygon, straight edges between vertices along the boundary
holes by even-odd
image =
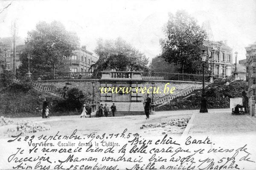
[[[24,40],[20,37],[16,38],[16,55],[14,57],[13,37],[4,37],[0,39],[0,55],[1,55],[1,70],[3,70],[5,61],[7,70],[13,70],[14,67],[19,68],[21,65],[20,55],[24,51]],[[14,62],[15,59],[15,62]]]

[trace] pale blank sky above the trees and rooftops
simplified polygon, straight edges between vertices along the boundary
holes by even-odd
[[[25,38],[39,21],[58,20],[89,51],[98,38],[122,37],[151,60],[161,53],[168,14],[177,10],[211,30],[210,40],[227,40],[233,62],[235,51],[238,60],[245,59],[244,47],[256,42],[256,0],[5,0],[0,1],[0,37],[12,35],[13,22],[18,36]]]

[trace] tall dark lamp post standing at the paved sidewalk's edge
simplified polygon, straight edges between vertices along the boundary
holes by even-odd
[[[205,50],[202,50],[202,54],[200,55],[203,62],[203,89],[202,89],[202,98],[201,98],[201,108],[200,113],[207,113],[207,100],[205,98],[205,90],[204,90],[204,65],[207,60],[207,54],[204,52]]]

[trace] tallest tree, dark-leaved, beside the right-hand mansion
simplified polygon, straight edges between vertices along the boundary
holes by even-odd
[[[182,73],[200,73],[201,48],[207,38],[206,32],[197,24],[195,18],[185,11],[169,14],[164,29],[165,38],[160,40],[162,54],[166,62],[180,65]]]

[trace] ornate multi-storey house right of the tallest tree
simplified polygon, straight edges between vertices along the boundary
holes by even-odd
[[[226,78],[232,74],[232,48],[227,42],[205,41],[209,71],[215,78]]]

